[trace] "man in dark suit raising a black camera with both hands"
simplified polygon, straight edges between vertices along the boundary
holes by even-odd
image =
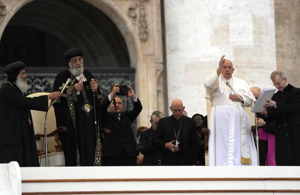
[[[104,135],[102,145],[104,166],[136,165],[138,152],[131,124],[138,117],[143,107],[133,89],[127,84],[126,86],[127,88],[121,85],[120,93],[120,86],[115,84],[112,92],[101,103],[101,124],[103,128],[111,131],[111,134]],[[122,112],[122,99],[116,94],[128,95],[133,101],[133,110]],[[107,108],[110,112],[107,112]]]

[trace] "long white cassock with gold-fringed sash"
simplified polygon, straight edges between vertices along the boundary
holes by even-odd
[[[242,151],[244,154],[245,150],[250,156],[251,163],[249,165],[257,166],[257,153],[251,132],[251,122],[244,108],[244,106],[249,107],[249,105],[233,102],[229,99],[230,93],[234,93],[225,84],[227,81],[239,95],[242,95],[244,102],[247,101],[252,104],[252,100],[255,99],[248,84],[242,79],[232,77],[226,80],[221,73],[218,76],[217,71],[207,78],[204,84],[205,98],[211,99],[212,102],[208,142],[209,166],[247,166],[248,164],[241,163]],[[242,115],[244,122],[241,124]],[[242,146],[241,125],[245,127]]]

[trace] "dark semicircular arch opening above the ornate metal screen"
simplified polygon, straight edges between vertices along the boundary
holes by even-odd
[[[85,66],[128,68],[126,42],[114,22],[81,0],[36,0],[8,22],[0,41],[0,65],[61,67],[63,52],[84,51]]]

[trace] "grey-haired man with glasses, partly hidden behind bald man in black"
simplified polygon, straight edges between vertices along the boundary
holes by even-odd
[[[139,144],[143,147],[141,150],[141,153],[144,155],[143,166],[157,166],[161,162],[161,152],[152,145],[151,141],[154,138],[158,121],[163,117],[162,112],[154,111],[150,117],[151,127],[140,133]]]

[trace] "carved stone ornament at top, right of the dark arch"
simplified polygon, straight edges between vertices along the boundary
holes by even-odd
[[[145,11],[145,2],[149,0],[136,0],[128,8],[128,16],[132,18],[133,23],[136,22],[138,17],[138,37],[142,42],[148,39],[148,27]],[[139,15],[137,16],[135,10],[139,7]]]

